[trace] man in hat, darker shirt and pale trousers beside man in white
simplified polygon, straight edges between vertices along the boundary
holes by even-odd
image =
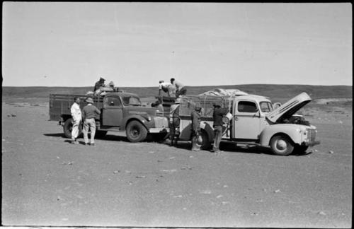
[[[96,134],[96,121],[97,115],[101,114],[101,111],[93,105],[93,99],[86,99],[87,105],[82,109],[82,117],[84,119],[84,141],[85,145],[89,144],[89,129],[91,131],[91,146],[95,146],[95,134]]]

